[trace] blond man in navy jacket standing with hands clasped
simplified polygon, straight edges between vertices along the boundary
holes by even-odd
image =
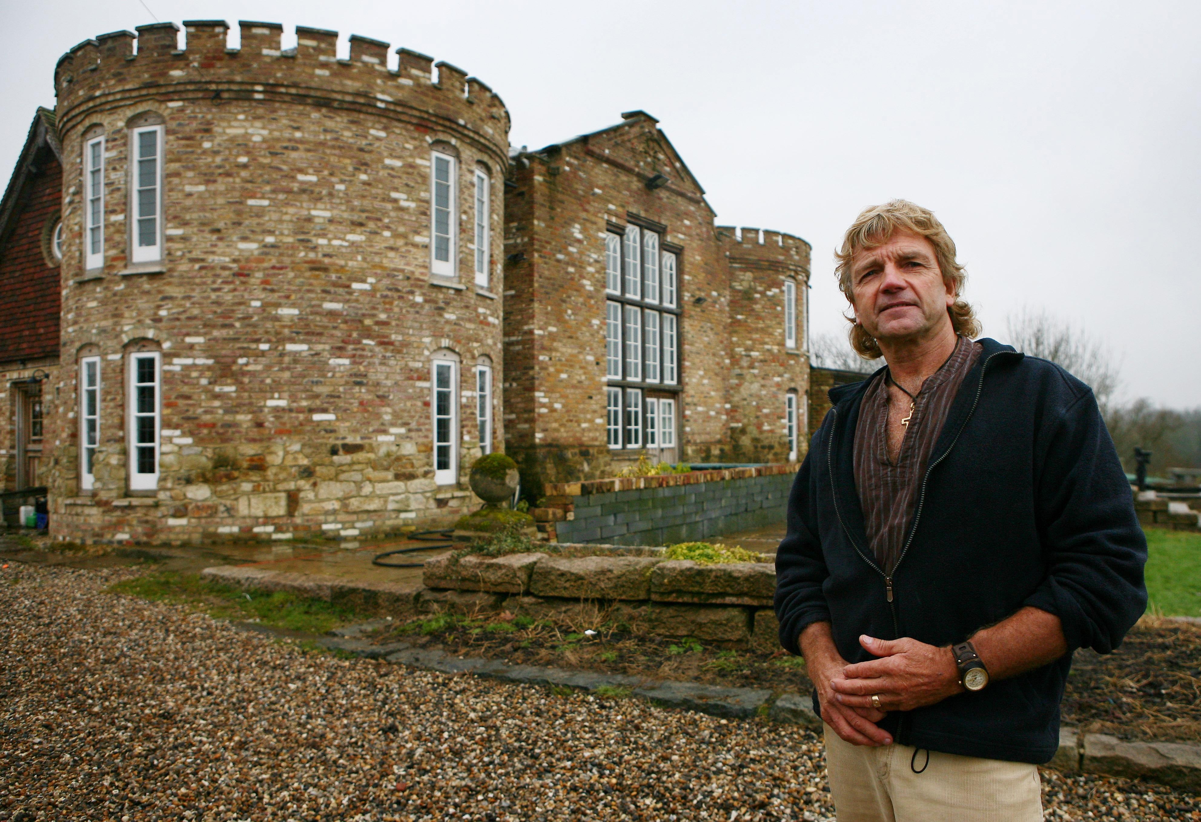
[[[1087,385],[979,334],[927,209],[864,211],[850,338],[776,558],[779,637],[825,722],[839,822],[1042,818],[1071,652],[1147,604],[1147,545]]]

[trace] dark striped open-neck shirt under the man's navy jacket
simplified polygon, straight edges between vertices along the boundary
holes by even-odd
[[[946,422],[951,401],[981,350],[980,343],[961,336],[943,367],[921,384],[895,464],[889,461],[892,401],[885,379],[888,370],[873,377],[864,394],[855,426],[855,488],[864,509],[867,542],[885,574],[891,575],[901,559],[930,455]],[[891,412],[909,414],[909,398],[902,398]]]

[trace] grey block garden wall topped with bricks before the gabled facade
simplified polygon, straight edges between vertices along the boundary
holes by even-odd
[[[671,545],[784,521],[795,463],[545,486],[531,511],[552,542]]]

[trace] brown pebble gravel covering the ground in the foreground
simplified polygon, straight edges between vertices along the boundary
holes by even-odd
[[[0,820],[825,820],[811,733],[345,660],[0,570]],[[1044,778],[1054,820],[1201,820]]]

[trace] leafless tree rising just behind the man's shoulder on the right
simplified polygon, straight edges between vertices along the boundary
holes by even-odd
[[[1014,348],[1062,366],[1093,389],[1101,413],[1106,412],[1122,380],[1113,355],[1104,343],[1045,311],[1023,308],[1018,314],[1010,314],[1005,326]]]

